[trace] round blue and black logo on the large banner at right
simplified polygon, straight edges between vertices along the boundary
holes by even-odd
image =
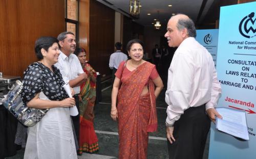
[[[254,17],[254,12],[245,16],[239,24],[239,32],[242,36],[246,38],[252,38],[256,36],[256,18]],[[255,23],[255,24],[254,24]]]

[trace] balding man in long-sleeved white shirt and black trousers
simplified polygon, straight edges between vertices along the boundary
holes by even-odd
[[[164,36],[170,47],[178,47],[165,93],[169,158],[202,158],[210,121],[222,118],[215,110],[221,86],[214,61],[195,40],[195,24],[186,15],[172,16]]]

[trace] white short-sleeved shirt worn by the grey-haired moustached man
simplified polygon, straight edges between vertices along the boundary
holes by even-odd
[[[78,60],[77,56],[74,54],[70,54],[67,57],[63,52],[60,51],[60,55],[58,58],[58,62],[55,66],[59,69],[64,82],[67,84],[70,80],[75,79],[78,74],[84,73],[80,61]],[[73,88],[75,94],[80,93],[80,86]]]

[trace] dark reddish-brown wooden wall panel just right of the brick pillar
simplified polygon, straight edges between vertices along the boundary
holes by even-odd
[[[111,75],[110,55],[114,52],[115,11],[90,1],[90,64],[104,76]],[[103,80],[102,79],[102,80]]]

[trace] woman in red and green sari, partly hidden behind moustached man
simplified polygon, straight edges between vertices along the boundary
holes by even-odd
[[[99,150],[98,138],[93,126],[97,74],[91,65],[86,63],[85,49],[77,48],[74,54],[78,57],[83,71],[88,74],[88,80],[80,85],[80,136],[78,155],[81,155],[82,152],[94,153]]]

